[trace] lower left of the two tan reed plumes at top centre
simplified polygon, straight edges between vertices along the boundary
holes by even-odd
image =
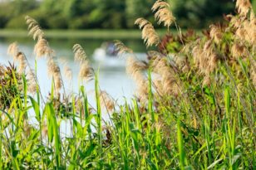
[[[140,17],[135,21],[135,24],[142,29],[142,39],[147,47],[157,46],[160,43],[160,37],[155,32],[153,25],[146,19]]]

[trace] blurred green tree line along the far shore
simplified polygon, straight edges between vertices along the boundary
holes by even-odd
[[[151,22],[155,0],[9,0],[0,2],[0,28],[26,28],[24,17],[46,29],[134,28],[137,17]],[[254,0],[254,7],[255,7]],[[180,27],[202,28],[234,12],[233,0],[170,0]]]

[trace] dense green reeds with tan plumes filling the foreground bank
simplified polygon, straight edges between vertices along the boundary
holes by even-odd
[[[146,61],[116,41],[121,57],[129,54],[127,73],[137,85],[135,98],[123,105],[101,91],[80,45],[73,47],[81,66],[80,90],[66,94],[63,80],[71,79],[71,69],[59,66],[42,28],[26,17],[37,41],[35,56],[47,60],[52,91],[42,97],[37,68],[13,43],[8,54],[18,68],[0,71],[0,167],[254,169],[256,19],[249,0],[238,0],[237,15],[202,35],[180,32],[169,7],[162,0],[152,7],[156,22],[167,27],[163,40],[149,21],[135,21],[146,46],[159,46],[147,52]],[[172,24],[176,36],[170,34]],[[95,80],[96,108],[87,100],[89,80]],[[70,134],[61,134],[62,122],[71,124]]]

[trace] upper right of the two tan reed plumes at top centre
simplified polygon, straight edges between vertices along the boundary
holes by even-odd
[[[165,27],[169,29],[172,22],[175,22],[175,17],[170,11],[170,4],[168,2],[157,0],[151,9],[155,12],[155,20],[158,21],[158,24],[163,22]]]

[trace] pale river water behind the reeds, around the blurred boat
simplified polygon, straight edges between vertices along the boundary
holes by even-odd
[[[33,48],[35,41],[32,38],[7,38],[0,37],[0,63],[7,65],[8,61],[13,62],[11,56],[7,56],[7,47],[13,41],[17,41],[17,44],[21,51],[25,53],[31,66],[34,66],[35,56],[33,54]],[[99,70],[99,83],[101,90],[105,90],[115,100],[123,100],[124,97],[129,99],[133,96],[135,90],[135,84],[130,79],[129,75],[126,75],[126,57],[103,57],[101,61],[94,60],[93,53],[96,48],[99,48],[103,42],[111,40],[103,39],[48,39],[49,45],[56,52],[59,61],[67,61],[68,66],[72,70],[72,81],[64,80],[66,93],[78,91],[78,79],[79,65],[73,60],[72,46],[76,43],[81,44],[85,49],[87,56],[90,59],[90,64],[95,70]],[[145,46],[140,39],[136,40],[121,40],[126,46],[130,46],[138,55],[145,57],[143,52]],[[62,70],[61,66],[61,70]],[[37,78],[41,86],[42,94],[47,96],[51,90],[51,79],[47,76],[47,63],[46,59],[37,59]],[[86,91],[88,98],[92,105],[94,105],[94,82],[91,81],[86,85]]]

